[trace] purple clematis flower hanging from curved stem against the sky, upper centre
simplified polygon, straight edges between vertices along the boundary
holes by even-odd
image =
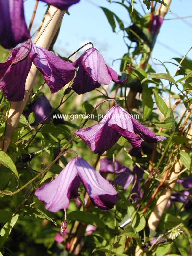
[[[116,83],[124,83],[118,79],[117,73],[105,64],[103,56],[96,48],[86,50],[74,63],[77,68],[77,75],[72,87],[77,94],[90,92],[101,84],[108,85],[111,80]]]

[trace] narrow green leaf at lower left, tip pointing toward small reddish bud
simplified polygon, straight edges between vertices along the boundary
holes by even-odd
[[[20,205],[18,208],[20,210],[20,214],[31,216],[32,218],[37,220],[50,220],[52,223],[55,224],[55,226],[57,226],[57,223],[54,220],[52,220],[47,214],[45,214],[38,208],[34,208],[30,205]]]

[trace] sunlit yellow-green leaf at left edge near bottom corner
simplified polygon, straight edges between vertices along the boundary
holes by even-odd
[[[13,213],[11,219],[7,223],[5,223],[3,228],[1,228],[1,231],[0,231],[0,247],[3,246],[7,237],[11,233],[11,230],[14,227],[15,223],[17,222],[18,217],[19,217],[19,214]]]

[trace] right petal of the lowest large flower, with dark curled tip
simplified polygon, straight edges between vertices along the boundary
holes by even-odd
[[[76,168],[92,203],[102,210],[111,209],[117,201],[113,186],[82,158],[77,158]]]

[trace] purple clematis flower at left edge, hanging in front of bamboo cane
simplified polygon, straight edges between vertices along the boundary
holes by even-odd
[[[32,62],[41,72],[51,93],[60,90],[75,75],[73,64],[27,41],[13,49],[5,63],[0,63],[0,79],[3,77],[0,89],[7,100],[20,101],[24,98],[25,81]]]

